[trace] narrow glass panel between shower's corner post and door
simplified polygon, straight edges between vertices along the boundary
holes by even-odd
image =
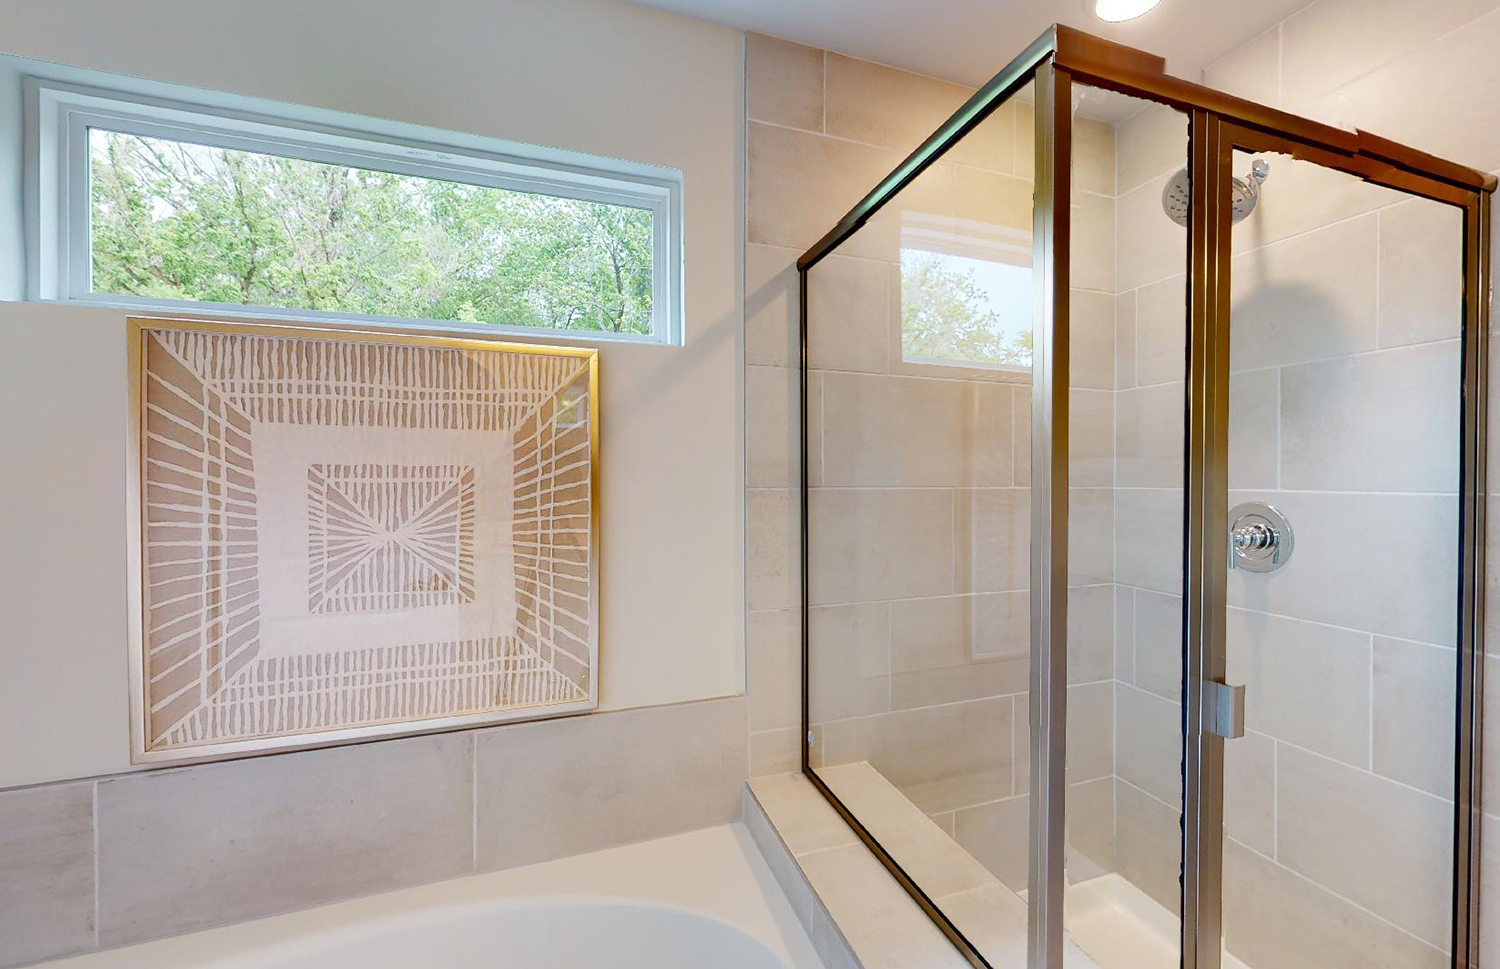
[[[1186,116],[1074,88],[1070,969],[1179,964],[1186,164]]]

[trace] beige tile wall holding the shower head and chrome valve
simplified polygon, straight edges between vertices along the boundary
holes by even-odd
[[[1376,90],[1368,80],[1346,84],[1374,64],[1300,93],[1332,70],[1318,62],[1370,54],[1348,42],[1356,21],[1360,36],[1378,34],[1377,50],[1410,50],[1356,6],[1308,8],[1215,66],[1209,82],[1292,110],[1318,100],[1340,122],[1416,138],[1419,124],[1370,120],[1444,114],[1392,96],[1414,66],[1377,70],[1389,78],[1378,105],[1354,98]],[[1474,4],[1437,6],[1437,20],[1461,21],[1473,10],[1456,8]],[[1402,15],[1389,14],[1394,27]],[[1442,44],[1464,63],[1456,36]],[[1180,476],[1180,417],[1166,417],[1180,416],[1182,282],[1149,282],[1182,261],[1155,202],[1161,171],[1180,165],[1180,152],[1167,153],[1180,126],[1167,120],[1154,110],[1119,129],[1118,278],[1122,291],[1143,285],[1116,315],[1116,570],[1131,597],[1118,642],[1116,858],[1172,903],[1176,852],[1164,832],[1174,837],[1179,810],[1180,600],[1174,562],[1150,543],[1180,536],[1180,498],[1161,486]],[[1142,244],[1126,246],[1126,232],[1143,232]],[[1269,500],[1298,530],[1286,570],[1230,574],[1228,674],[1246,684],[1250,734],[1226,754],[1226,930],[1250,964],[1437,964],[1446,948],[1458,232],[1454,210],[1288,159],[1272,159],[1260,207],[1234,230],[1230,502]],[[1150,387],[1155,408],[1131,399]],[[1389,537],[1360,552],[1371,526]]]

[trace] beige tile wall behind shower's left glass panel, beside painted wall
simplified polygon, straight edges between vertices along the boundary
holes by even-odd
[[[764,774],[794,770],[800,742],[786,702],[800,672],[796,544],[783,540],[795,538],[798,472],[795,400],[783,396],[796,363],[790,267],[970,92],[758,34],[747,72],[746,418],[747,440],[766,442],[747,496],[752,530],[765,525],[750,540],[750,720],[752,770]],[[876,765],[1016,888],[1029,788],[1030,387],[902,362],[896,226],[916,213],[951,231],[984,222],[1029,236],[1030,124],[1029,105],[1002,106],[808,278],[813,762]],[[1071,462],[1086,526],[1070,615],[1082,738],[1070,783],[1076,854],[1110,870],[1114,130],[1083,120],[1077,142]]]

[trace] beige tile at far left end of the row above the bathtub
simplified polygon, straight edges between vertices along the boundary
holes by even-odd
[[[0,966],[93,944],[93,784],[0,794]]]

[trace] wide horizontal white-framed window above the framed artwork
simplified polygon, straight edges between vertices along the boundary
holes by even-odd
[[[32,87],[38,298],[681,339],[678,172]]]

